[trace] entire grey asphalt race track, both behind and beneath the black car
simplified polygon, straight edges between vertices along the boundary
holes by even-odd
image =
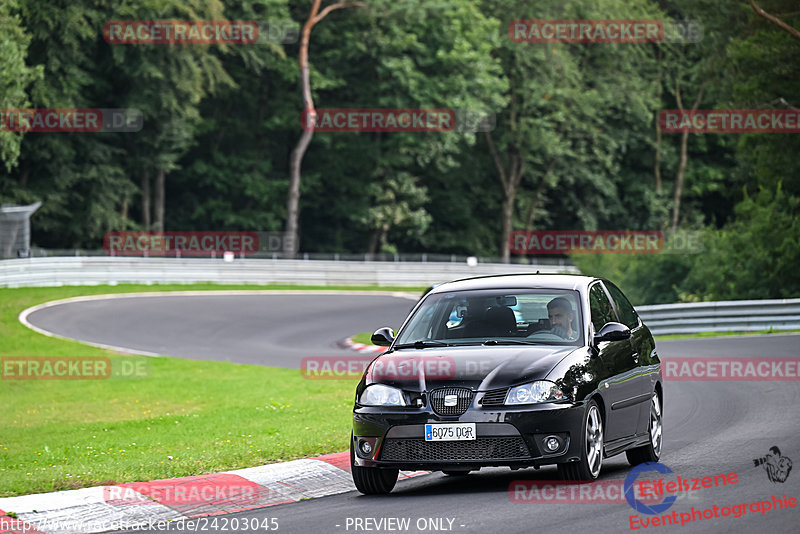
[[[84,341],[193,359],[298,367],[304,356],[336,354],[337,341],[356,332],[397,327],[413,299],[388,295],[161,296],[76,302],[44,308],[28,320],[39,328]],[[671,357],[796,357],[800,336],[701,338],[657,343]],[[665,384],[661,463],[682,478],[735,472],[737,483],[680,496],[672,511],[691,513],[800,497],[800,467],[784,483],[771,482],[753,459],[772,446],[800,462],[800,385],[797,381],[668,381]],[[342,444],[344,450],[346,443]],[[601,480],[624,479],[625,456],[604,461]],[[216,516],[219,528],[238,518],[276,518],[278,532],[630,532],[627,503],[512,502],[515,480],[554,480],[556,470],[484,469],[466,477],[441,473],[404,480],[389,496],[350,493]],[[653,473],[652,477],[658,478]],[[410,521],[380,524],[389,518]],[[224,522],[223,520],[228,520]],[[646,532],[797,532],[800,507],[750,511],[741,517],[702,519]],[[196,521],[195,521],[196,523]],[[267,522],[268,523],[268,522]],[[251,523],[252,524],[252,523]],[[209,523],[210,525],[210,523]],[[636,525],[639,526],[639,525]],[[181,525],[170,530],[181,531]],[[184,532],[191,531],[185,530]],[[210,529],[210,526],[207,526]],[[213,530],[213,529],[211,529]],[[237,529],[255,532],[264,529]],[[148,532],[143,530],[143,532]],[[153,530],[152,532],[160,532]]]

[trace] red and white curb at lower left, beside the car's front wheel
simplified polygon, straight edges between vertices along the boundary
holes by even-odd
[[[401,471],[400,479],[427,473]],[[0,534],[120,530],[354,489],[350,453],[341,452],[224,473],[6,497],[0,499]]]

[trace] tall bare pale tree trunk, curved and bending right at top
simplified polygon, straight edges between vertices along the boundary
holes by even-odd
[[[303,134],[292,150],[289,162],[289,192],[286,199],[286,239],[284,240],[284,253],[294,256],[299,250],[300,233],[299,228],[299,206],[300,206],[300,170],[303,165],[303,156],[306,153],[311,138],[314,136],[314,125],[316,123],[316,111],[314,111],[314,101],[311,99],[311,81],[308,70],[308,43],[311,38],[311,28],[319,21],[324,19],[328,13],[334,9],[342,9],[351,6],[363,6],[363,2],[338,2],[332,4],[321,12],[319,10],[321,0],[314,0],[311,6],[311,13],[303,25],[303,33],[300,38],[300,53],[298,62],[300,64],[300,85],[303,93],[303,119],[305,127]]]

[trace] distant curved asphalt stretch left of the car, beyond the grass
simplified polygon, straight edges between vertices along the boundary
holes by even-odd
[[[138,351],[299,368],[307,356],[352,353],[338,342],[353,334],[399,328],[417,297],[138,296],[50,306],[31,313],[28,321],[62,337]]]

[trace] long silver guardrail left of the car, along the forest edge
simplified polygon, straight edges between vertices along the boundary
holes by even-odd
[[[0,287],[99,284],[291,284],[426,286],[470,276],[571,273],[573,265],[412,263],[283,259],[50,257],[0,261]]]

